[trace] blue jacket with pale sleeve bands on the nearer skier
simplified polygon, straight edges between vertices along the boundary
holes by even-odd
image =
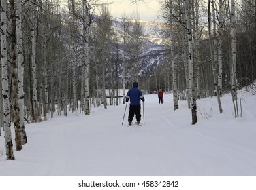
[[[128,102],[130,99],[131,105],[139,105],[140,100],[142,100],[142,102],[145,101],[142,91],[138,89],[138,86],[134,85],[134,83],[133,83],[133,88],[131,88],[127,92],[125,99],[126,99],[126,102]]]

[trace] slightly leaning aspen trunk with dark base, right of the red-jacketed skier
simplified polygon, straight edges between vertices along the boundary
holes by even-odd
[[[191,98],[191,113],[192,113],[192,124],[197,123],[197,104],[195,97],[194,88],[194,59],[193,59],[193,38],[192,38],[192,28],[191,28],[191,16],[190,16],[190,2],[189,0],[184,0],[185,18],[187,26],[187,36],[188,36],[188,52],[189,52],[189,91]]]

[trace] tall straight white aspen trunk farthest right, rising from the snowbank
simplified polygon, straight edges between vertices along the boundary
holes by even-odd
[[[231,94],[234,104],[234,115],[238,117],[238,98],[236,90],[236,14],[235,1],[231,0]]]

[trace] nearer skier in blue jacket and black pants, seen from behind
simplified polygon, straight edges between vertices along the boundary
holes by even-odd
[[[126,96],[126,102],[130,100],[128,123],[131,125],[134,114],[136,115],[137,124],[140,124],[140,100],[145,101],[142,91],[138,89],[138,82],[133,82],[133,88],[131,88]]]

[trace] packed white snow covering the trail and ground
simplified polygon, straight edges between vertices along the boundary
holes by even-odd
[[[163,100],[145,95],[142,126],[127,127],[129,103],[126,112],[119,103],[26,125],[28,143],[14,161],[1,128],[0,176],[256,176],[255,95],[242,92],[237,118],[230,94],[221,114],[216,97],[197,100],[195,125],[186,101],[174,111],[172,94]]]

